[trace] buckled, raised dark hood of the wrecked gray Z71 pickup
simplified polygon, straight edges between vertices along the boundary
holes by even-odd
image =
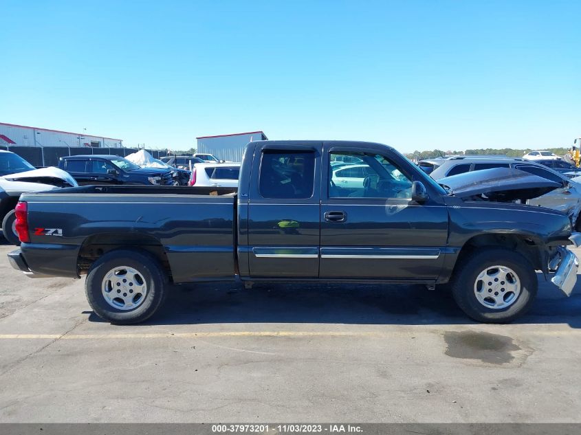
[[[562,187],[556,181],[513,168],[474,170],[444,177],[438,183],[449,188],[456,197],[484,195],[492,201],[527,200]]]

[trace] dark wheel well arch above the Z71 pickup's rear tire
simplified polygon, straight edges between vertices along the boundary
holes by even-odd
[[[115,249],[140,249],[149,252],[160,265],[166,270],[168,276],[171,278],[171,267],[162,243],[149,234],[124,234],[124,233],[104,233],[94,234],[83,241],[80,246],[77,256],[77,267],[79,274],[86,274],[91,265],[107,254],[107,252]]]

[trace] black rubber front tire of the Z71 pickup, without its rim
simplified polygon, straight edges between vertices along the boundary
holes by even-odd
[[[509,267],[518,276],[520,294],[503,309],[491,309],[476,298],[474,285],[479,274],[487,267]],[[486,286],[487,287],[487,286]],[[472,319],[485,323],[508,323],[520,317],[530,308],[538,289],[535,268],[527,258],[508,249],[484,248],[471,252],[459,261],[452,278],[454,300]],[[485,290],[483,290],[485,291]]]

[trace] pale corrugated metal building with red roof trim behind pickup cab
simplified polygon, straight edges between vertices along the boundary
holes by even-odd
[[[263,131],[234,133],[232,135],[196,137],[197,153],[212,154],[217,159],[226,161],[242,161],[244,148],[248,142],[268,140]]]

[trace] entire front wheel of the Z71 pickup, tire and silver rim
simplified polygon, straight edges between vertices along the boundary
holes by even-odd
[[[507,249],[483,249],[460,260],[452,279],[452,295],[472,319],[512,322],[531,306],[538,281],[533,265]]]

